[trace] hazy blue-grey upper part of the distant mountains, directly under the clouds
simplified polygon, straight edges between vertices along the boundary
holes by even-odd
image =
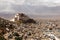
[[[48,7],[44,5],[40,6],[30,6],[30,5],[11,5],[8,11],[13,10],[11,12],[23,12],[25,14],[32,14],[32,15],[60,15],[60,6],[56,7]],[[5,11],[2,11],[5,13]],[[6,11],[7,13],[7,11]]]

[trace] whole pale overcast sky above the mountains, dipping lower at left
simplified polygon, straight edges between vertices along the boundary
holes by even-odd
[[[13,5],[30,5],[40,6],[45,5],[48,7],[60,6],[60,0],[0,0],[0,12],[14,11],[11,9]]]

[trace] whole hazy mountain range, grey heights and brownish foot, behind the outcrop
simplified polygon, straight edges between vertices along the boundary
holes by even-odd
[[[44,5],[40,6],[30,6],[30,5],[13,5],[10,10],[13,11],[0,11],[0,16],[6,19],[11,19],[16,13],[22,12],[30,17],[43,17],[52,18],[60,16],[60,6],[48,7]]]

